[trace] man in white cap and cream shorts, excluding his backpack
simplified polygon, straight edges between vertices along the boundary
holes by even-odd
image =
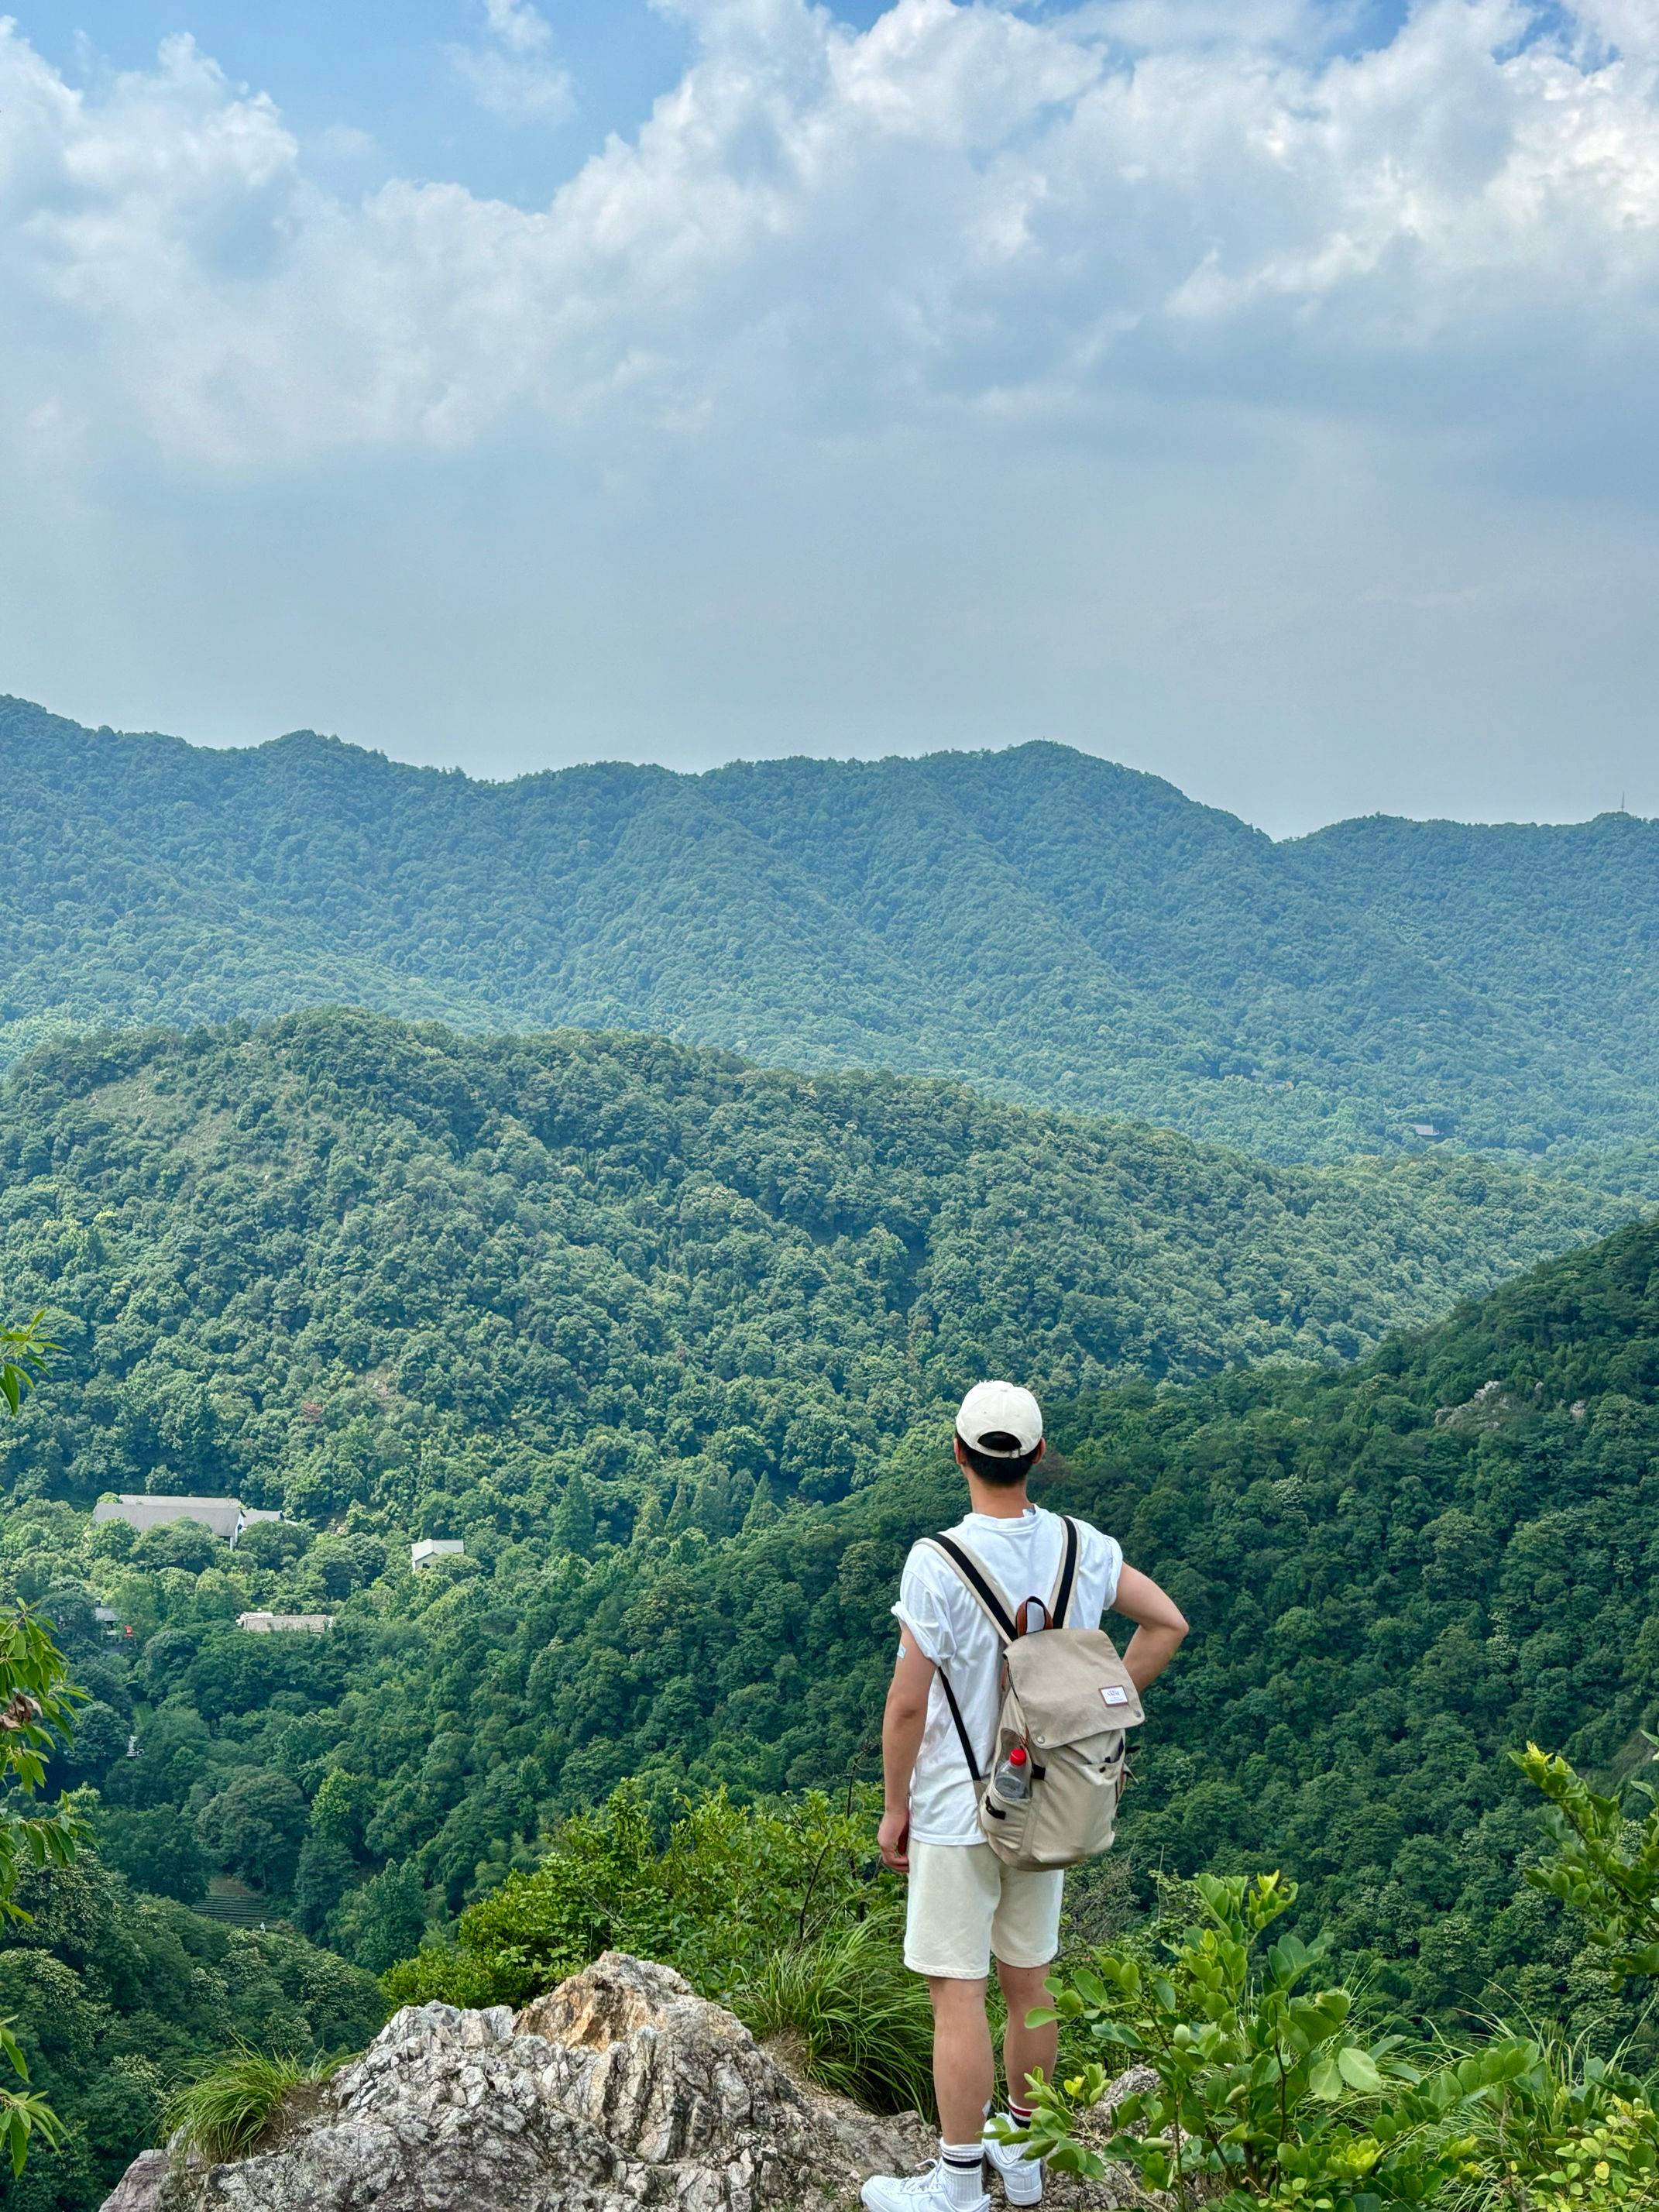
[[[1057,1513],[1031,1504],[1026,1478],[1042,1453],[1042,1409],[1031,1391],[975,1383],[956,1416],[956,1462],[967,1475],[971,1511],[945,1540],[911,1548],[894,1606],[902,1632],[883,1721],[880,1856],[909,1876],[905,1964],[927,1975],[933,2000],[940,2150],[922,2174],[865,2181],[869,2212],[984,2212],[987,2157],[1009,2203],[1033,2205],[1042,2197],[1042,2161],[987,2132],[995,2086],[991,1958],[1009,2006],[1006,2119],[1024,2126],[1031,2077],[1051,2077],[1055,2066],[1057,2031],[1029,2028],[1026,2013],[1048,2002],[1044,1982],[1060,1949],[1066,1880],[1053,1867],[1004,1865],[980,1827],[1006,1626],[1042,1628],[1051,1606],[1057,1628],[1099,1628],[1102,1613],[1121,1613],[1135,1621],[1124,1652],[1135,1690],[1157,1681],[1186,1637],[1179,1608],[1148,1575],[1124,1566],[1113,1537],[1071,1522],[1075,1540],[1068,1540]],[[1128,1692],[1102,1694],[1110,1703]],[[1020,1752],[1020,1761],[1026,1756]],[[1015,1785],[1020,1778],[1015,1767]]]

